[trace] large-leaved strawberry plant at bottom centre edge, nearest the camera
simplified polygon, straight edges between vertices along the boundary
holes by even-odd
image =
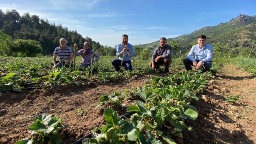
[[[82,144],[161,144],[160,140],[155,138],[144,138],[133,123],[118,118],[116,111],[107,108],[104,111],[106,125],[102,127],[102,133],[95,138],[85,138]]]

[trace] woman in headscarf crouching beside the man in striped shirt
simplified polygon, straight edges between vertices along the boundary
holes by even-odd
[[[76,43],[74,44],[74,47],[77,48]],[[91,67],[92,64],[98,62],[100,59],[100,55],[92,50],[89,42],[84,42],[84,48],[76,52],[76,56],[80,55],[82,55],[82,62],[80,63],[79,70],[82,70],[82,68],[86,69],[88,66]],[[96,57],[95,60],[94,57]]]

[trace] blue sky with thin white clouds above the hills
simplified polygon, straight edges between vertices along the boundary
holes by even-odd
[[[36,14],[103,46],[115,46],[122,34],[128,34],[130,44],[147,44],[239,14],[255,16],[256,0],[0,0],[0,9]]]

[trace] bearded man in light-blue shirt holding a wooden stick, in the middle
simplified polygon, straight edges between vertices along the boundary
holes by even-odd
[[[125,70],[132,71],[133,46],[128,43],[128,35],[122,35],[122,44],[117,45],[116,56],[118,56],[118,59],[112,60],[112,65],[116,68],[116,71],[119,72],[120,70],[122,58],[124,58],[122,66],[125,67]]]

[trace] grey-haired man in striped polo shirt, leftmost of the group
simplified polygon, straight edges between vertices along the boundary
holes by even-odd
[[[74,56],[72,49],[66,46],[67,40],[65,38],[60,39],[60,46],[55,48],[53,55],[53,64],[52,68],[61,68],[62,66],[68,67],[71,64],[71,60]],[[59,56],[59,60],[56,61],[57,56]],[[71,64],[72,67],[72,64]]]

